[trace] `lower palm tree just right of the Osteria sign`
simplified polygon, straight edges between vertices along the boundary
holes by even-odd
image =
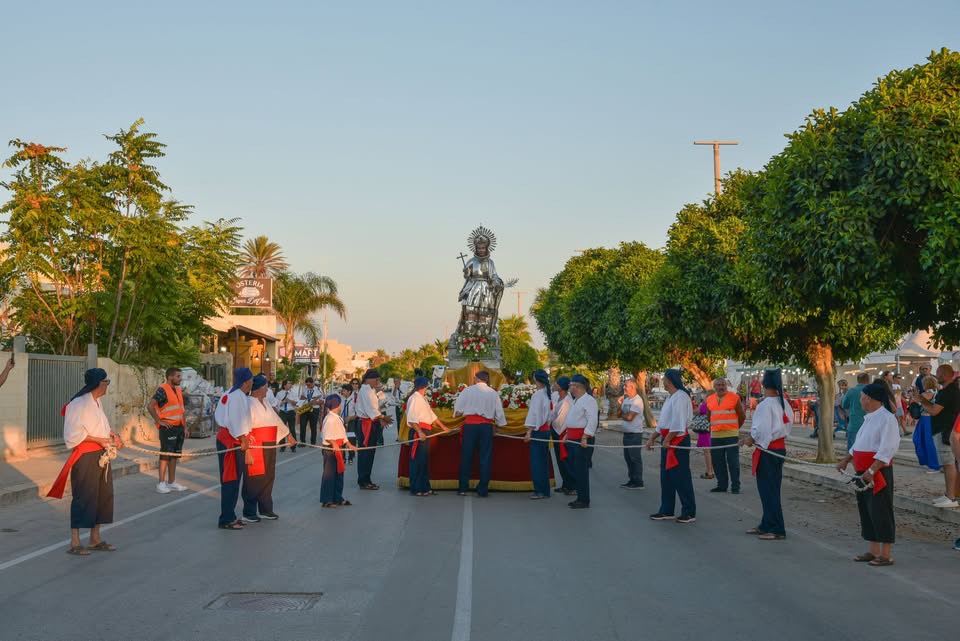
[[[302,276],[283,272],[273,284],[273,311],[283,324],[283,347],[293,360],[296,333],[300,332],[316,345],[321,328],[312,316],[323,309],[332,309],[340,318],[347,317],[347,308],[337,295],[337,283],[329,276],[307,272]]]

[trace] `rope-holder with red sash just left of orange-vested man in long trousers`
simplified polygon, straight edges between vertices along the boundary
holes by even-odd
[[[652,450],[657,436],[663,440],[660,450],[660,509],[650,518],[654,521],[674,520],[679,496],[680,516],[676,522],[693,523],[697,520],[697,501],[693,494],[693,478],[690,476],[690,436],[687,433],[687,426],[693,420],[693,404],[680,378],[680,370],[668,369],[664,374],[663,386],[670,397],[660,410],[659,433],[654,432],[647,441],[647,449]]]

